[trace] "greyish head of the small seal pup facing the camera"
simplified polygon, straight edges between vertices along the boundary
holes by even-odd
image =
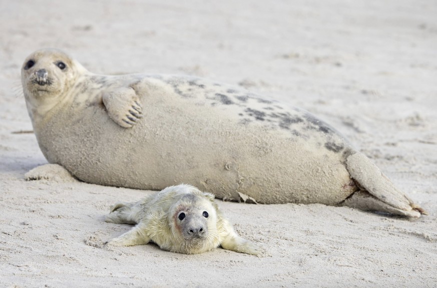
[[[199,191],[200,192],[200,191]],[[170,209],[169,223],[176,240],[175,251],[200,253],[219,244],[217,204],[214,195],[186,194]]]

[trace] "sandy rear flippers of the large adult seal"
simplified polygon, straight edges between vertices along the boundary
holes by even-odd
[[[343,201],[343,205],[362,210],[376,210],[410,217],[427,214],[408,198],[365,155],[357,152],[347,157],[346,168],[361,188]]]

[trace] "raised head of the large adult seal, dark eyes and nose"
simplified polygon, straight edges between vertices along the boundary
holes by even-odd
[[[44,114],[53,108],[86,69],[66,53],[57,49],[41,49],[30,54],[23,63],[23,92],[29,114]]]

